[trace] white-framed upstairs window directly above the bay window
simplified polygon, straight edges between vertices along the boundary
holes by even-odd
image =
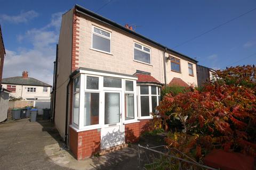
[[[134,43],[134,60],[151,64],[150,48]]]

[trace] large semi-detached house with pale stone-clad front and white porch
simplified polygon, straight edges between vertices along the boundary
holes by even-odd
[[[78,160],[138,141],[164,84],[197,86],[196,63],[75,5],[62,15],[57,45],[55,126]]]

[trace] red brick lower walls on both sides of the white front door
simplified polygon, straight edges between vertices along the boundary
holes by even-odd
[[[140,135],[148,131],[149,120],[125,124],[125,142],[135,143]],[[69,147],[77,160],[91,157],[100,152],[100,129],[76,132],[69,128]]]

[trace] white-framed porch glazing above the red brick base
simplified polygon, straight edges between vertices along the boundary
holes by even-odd
[[[115,121],[117,116],[112,115],[114,117],[107,119],[106,115],[111,116],[109,111],[117,109],[117,96],[121,103],[120,123],[137,122],[137,78],[129,78],[108,73],[82,72],[74,80],[73,127],[79,131],[100,129],[109,121]],[[76,88],[76,84],[79,87]]]

